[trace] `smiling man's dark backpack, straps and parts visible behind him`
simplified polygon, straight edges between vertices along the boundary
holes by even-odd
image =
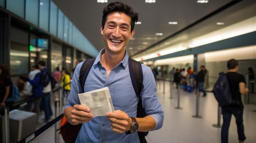
[[[90,69],[92,68],[92,65],[95,61],[95,57],[92,59],[87,59],[85,60],[85,62],[83,62],[83,65],[81,66],[80,69],[80,75],[79,75],[79,82],[80,82],[80,86],[82,89],[82,92],[84,92],[84,85],[85,85],[85,80],[89,74]],[[142,103],[141,103],[141,98],[140,98],[140,92],[143,91],[143,73],[142,73],[142,67],[141,67],[141,63],[129,58],[128,59],[128,64],[129,64],[129,72],[130,72],[130,77],[132,80],[132,86],[135,90],[136,95],[139,97],[139,103],[137,106],[137,117],[139,118],[143,118],[146,116],[146,112],[145,109],[142,107]],[[65,116],[63,117],[65,118]],[[82,124],[78,124],[78,125],[71,125],[70,123],[67,122],[67,120],[62,119],[61,120],[61,130],[60,130],[60,134],[63,137],[63,140],[66,143],[72,143],[75,142],[76,137],[79,133],[79,130],[82,126]],[[72,128],[73,132],[70,134],[70,128]],[[76,130],[78,130],[78,132],[76,132]],[[65,136],[65,132],[69,132],[68,135]],[[147,143],[145,136],[148,134],[148,132],[137,132],[138,136],[139,136],[139,140],[141,143]],[[72,139],[71,139],[72,137]]]

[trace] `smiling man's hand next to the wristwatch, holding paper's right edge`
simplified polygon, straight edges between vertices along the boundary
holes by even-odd
[[[107,112],[106,117],[111,121],[111,129],[117,133],[124,133],[126,130],[130,130],[132,125],[132,119],[121,110],[115,110],[114,113]]]

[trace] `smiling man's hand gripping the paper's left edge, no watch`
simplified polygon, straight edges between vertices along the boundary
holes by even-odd
[[[88,106],[83,105],[74,105],[73,110],[71,111],[70,123],[72,125],[77,125],[79,123],[85,123],[91,121],[93,118],[93,114],[90,112],[90,108]]]

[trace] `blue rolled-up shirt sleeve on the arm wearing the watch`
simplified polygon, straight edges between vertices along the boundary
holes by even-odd
[[[155,128],[158,130],[162,128],[164,122],[164,111],[162,105],[157,97],[157,88],[155,85],[155,78],[151,69],[142,65],[143,70],[143,85],[144,90],[141,92],[142,106],[145,109],[146,115],[155,119]]]

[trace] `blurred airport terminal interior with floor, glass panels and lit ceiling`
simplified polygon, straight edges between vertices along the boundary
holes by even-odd
[[[162,128],[150,131],[147,142],[221,143],[222,111],[213,87],[219,73],[228,72],[227,61],[236,59],[249,89],[241,95],[245,143],[256,143],[256,0],[119,1],[139,13],[126,53],[151,68],[164,111]],[[115,0],[0,0],[0,101],[7,90],[2,67],[21,93],[17,100],[7,99],[5,107],[1,103],[1,143],[64,143],[56,130],[70,96],[66,86],[77,64],[106,47],[100,28],[110,2]],[[24,87],[39,61],[54,78],[58,68],[60,77],[51,92],[29,96]],[[207,71],[205,93],[195,82],[201,66]],[[176,69],[182,77],[178,85]],[[239,142],[234,116],[228,139]]]

